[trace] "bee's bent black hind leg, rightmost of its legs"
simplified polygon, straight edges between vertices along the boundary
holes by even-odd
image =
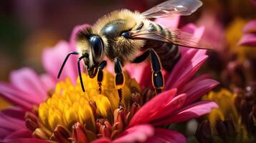
[[[158,58],[158,55],[156,54],[156,51],[153,49],[148,49],[145,51],[141,56],[136,57],[132,62],[133,63],[140,63],[144,61],[148,55],[151,55],[151,67],[152,67],[152,83],[153,87],[155,89],[156,94],[159,94],[162,92],[162,89],[164,87],[164,81],[163,81],[163,75],[161,73],[161,62]]]

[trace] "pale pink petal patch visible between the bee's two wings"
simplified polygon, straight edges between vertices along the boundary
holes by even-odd
[[[161,24],[166,28],[176,28],[179,26],[180,16],[171,16],[165,18],[158,18],[155,20],[157,24]]]

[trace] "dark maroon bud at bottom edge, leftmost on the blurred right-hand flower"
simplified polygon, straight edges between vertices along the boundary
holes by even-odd
[[[196,129],[195,136],[199,142],[212,142],[212,132],[208,120],[204,120],[201,124],[199,124],[199,127]]]

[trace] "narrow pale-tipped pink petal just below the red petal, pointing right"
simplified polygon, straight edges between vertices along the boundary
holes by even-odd
[[[196,102],[183,109],[179,109],[175,114],[172,114],[165,119],[161,119],[158,122],[154,122],[154,126],[162,124],[173,124],[176,122],[184,122],[189,119],[194,119],[202,116],[203,114],[208,114],[213,108],[217,108],[218,105],[214,102]]]

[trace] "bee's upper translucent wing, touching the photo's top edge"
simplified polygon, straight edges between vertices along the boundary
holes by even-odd
[[[175,14],[187,16],[202,6],[199,0],[169,0],[148,9],[142,13],[146,18],[173,16]]]

